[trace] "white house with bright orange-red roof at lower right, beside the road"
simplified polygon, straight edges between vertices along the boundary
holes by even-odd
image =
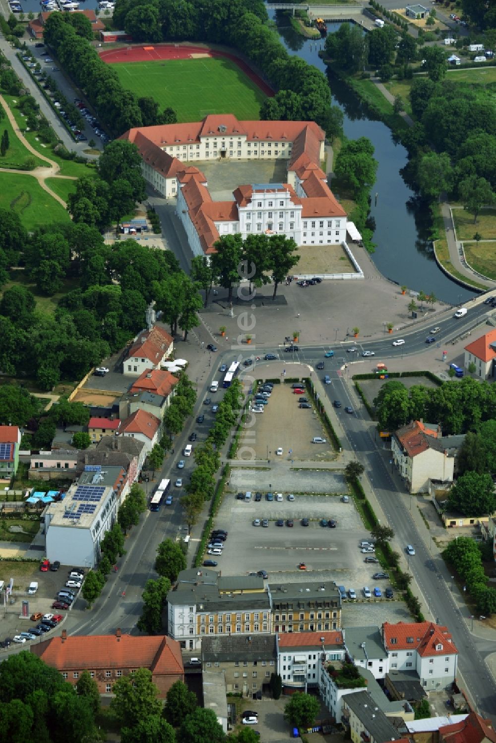
[[[390,672],[414,670],[431,691],[457,677],[458,651],[448,628],[434,622],[384,622],[381,627]]]

